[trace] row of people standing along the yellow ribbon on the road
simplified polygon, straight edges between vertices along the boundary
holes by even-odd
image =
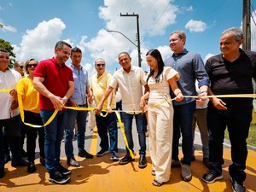
[[[113,76],[106,72],[106,62],[102,58],[95,60],[96,75],[91,78],[90,84],[87,71],[80,65],[81,49],[72,48],[63,41],[55,45],[53,58],[39,63],[34,59],[27,61],[25,66],[28,76],[21,80],[19,73],[8,67],[9,53],[1,49],[0,89],[12,89],[10,93],[1,93],[1,106],[6,109],[0,114],[1,143],[4,127],[12,138],[9,141],[13,154],[12,165],[26,164],[30,167],[28,171],[34,172],[34,148],[38,131],[39,136],[44,137],[44,141],[41,139],[39,142],[40,160],[49,172],[49,181],[67,183],[71,171],[60,164],[61,139],[65,133],[67,165],[79,166],[73,154],[75,123],[78,125],[78,155],[85,158],[93,158],[93,155],[84,149],[87,111],[66,110],[63,107],[88,107],[94,96],[96,125],[101,138],[101,149],[96,156],[111,152],[111,160],[119,160],[117,123],[112,113],[116,108],[115,90],[118,88],[122,96],[122,121],[128,142],[125,157],[119,160],[119,165],[134,160],[131,155],[134,152],[131,127],[132,119],[135,118],[140,145],[138,166],[147,166],[144,113],[148,113],[151,174],[154,175],[152,184],[161,186],[168,182],[171,167],[175,166],[181,167],[182,179],[189,182],[192,179],[191,161],[195,160],[193,143],[196,120],[201,131],[203,162],[209,168],[202,180],[213,183],[223,178],[223,142],[227,127],[231,143],[232,164],[229,172],[232,187],[234,191],[245,191],[246,139],[252,119],[253,98],[218,98],[218,95],[253,93],[256,53],[242,50],[242,41],[240,28],[225,30],[220,37],[221,53],[209,58],[204,65],[201,55],[185,49],[185,33],[175,31],[170,35],[173,54],[166,61],[163,61],[158,49],[151,49],[146,54],[149,73],[145,74],[141,67],[131,65],[130,55],[121,52],[118,55],[120,68]],[[65,63],[69,57],[72,65],[67,67]],[[195,81],[198,85],[195,85]],[[29,163],[22,160],[18,148],[20,135],[16,129],[20,116],[19,109],[14,108],[17,92],[23,100],[25,122],[43,125],[57,111],[52,122],[44,126],[44,131],[29,128],[31,131],[28,131],[28,135],[31,136],[27,142],[32,143],[30,149],[27,148]],[[207,96],[212,96],[210,101]],[[146,110],[145,105],[148,106]],[[179,160],[178,144],[181,136],[183,158]],[[2,145],[0,150],[0,176],[3,177]]]

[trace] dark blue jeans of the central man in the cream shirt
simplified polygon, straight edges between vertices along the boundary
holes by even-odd
[[[135,116],[136,119],[136,126],[137,126],[137,134],[138,134],[138,140],[140,144],[139,154],[145,155],[146,154],[146,135],[145,135],[145,127],[144,127],[144,117],[143,113],[138,114],[130,114],[130,113],[123,113],[123,120],[125,125],[125,136],[127,138],[127,142],[129,145],[129,148],[133,151],[134,144],[133,144],[133,138],[131,133],[132,128],[132,119],[133,116]],[[126,154],[129,154],[128,148],[126,148]]]

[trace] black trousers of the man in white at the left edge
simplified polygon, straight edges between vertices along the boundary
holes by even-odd
[[[20,161],[20,115],[9,119],[0,119],[0,168],[4,166],[3,127],[9,140],[12,158],[13,160]]]

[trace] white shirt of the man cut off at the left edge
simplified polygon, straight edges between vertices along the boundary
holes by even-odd
[[[13,69],[8,69],[5,72],[0,71],[0,90],[15,89],[17,82],[21,79],[20,73]],[[19,108],[11,110],[11,104],[14,100],[9,92],[0,92],[0,119],[9,119],[20,113]]]

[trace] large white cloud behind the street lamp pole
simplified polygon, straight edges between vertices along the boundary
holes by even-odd
[[[117,12],[119,10],[119,12]],[[139,15],[139,27],[141,43],[144,36],[160,35],[166,31],[166,27],[176,21],[177,7],[172,5],[172,1],[158,0],[157,3],[148,0],[104,0],[104,6],[99,8],[99,17],[106,22],[106,29],[97,32],[96,37],[84,42],[83,46],[90,51],[93,59],[102,57],[109,63],[115,63],[119,67],[117,55],[122,51],[130,53],[132,64],[137,66],[137,47],[131,44],[128,39],[118,32],[107,32],[106,30],[116,30],[123,33],[134,44],[137,44],[137,17],[120,16],[120,13]],[[148,14],[150,13],[150,14]],[[109,51],[110,50],[110,51]],[[148,67],[145,54],[148,49],[141,44],[142,66]]]

